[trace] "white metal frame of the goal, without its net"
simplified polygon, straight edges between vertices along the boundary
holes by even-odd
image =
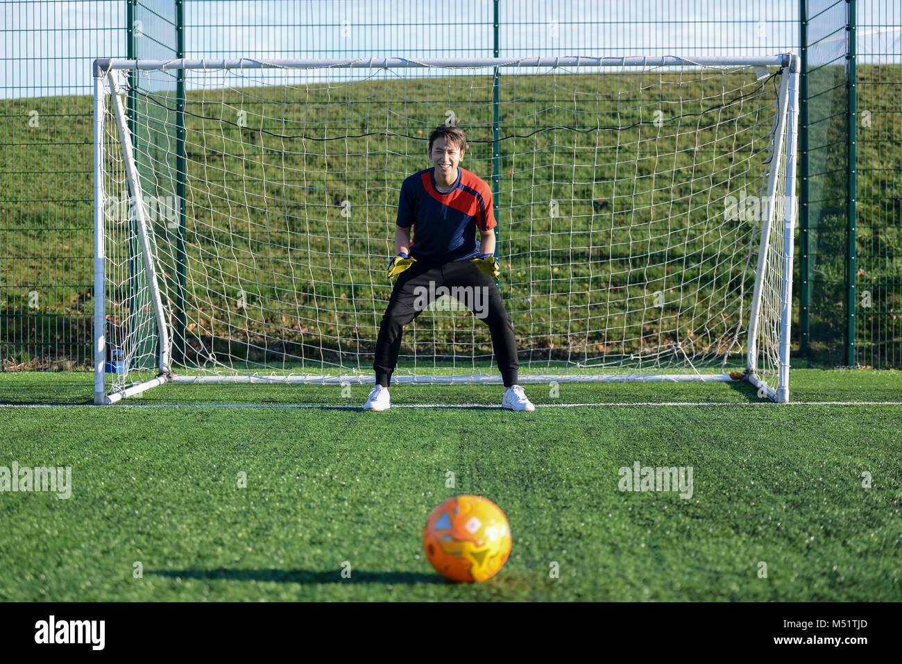
[[[781,90],[778,96],[779,125],[775,128],[777,140],[782,142],[786,135],[786,144],[777,145],[777,154],[785,159],[785,189],[777,191],[778,177],[776,169],[770,170],[768,194],[770,200],[779,201],[778,210],[767,215],[760,229],[760,246],[758,267],[755,276],[754,292],[750,301],[747,339],[747,369],[741,379],[755,385],[759,396],[766,396],[771,401],[786,403],[789,398],[789,349],[790,323],[792,318],[792,267],[793,244],[796,226],[796,137],[798,116],[798,92],[800,64],[795,54],[785,53],[769,57],[754,58],[711,58],[711,57],[626,57],[626,58],[591,58],[584,56],[559,58],[484,58],[484,59],[423,59],[408,60],[403,58],[367,58],[358,60],[112,60],[98,59],[93,62],[94,78],[94,353],[95,353],[95,389],[94,402],[111,404],[124,398],[139,394],[152,387],[170,382],[186,383],[372,383],[372,376],[363,375],[326,375],[326,374],[294,374],[294,375],[181,375],[173,372],[171,357],[171,335],[169,324],[164,313],[160,287],[157,280],[157,268],[154,264],[152,238],[148,236],[148,224],[144,218],[144,207],[141,180],[133,160],[131,134],[128,128],[123,99],[120,97],[119,76],[117,72],[127,69],[266,69],[266,68],[406,68],[406,67],[461,67],[461,68],[517,68],[517,67],[748,67],[765,68],[781,67],[787,75],[781,78]],[[124,389],[108,392],[106,385],[107,364],[107,321],[106,321],[106,248],[105,248],[105,214],[106,194],[104,191],[105,165],[105,121],[106,90],[113,91],[112,107],[115,111],[120,144],[123,154],[129,190],[138,204],[134,206],[137,228],[137,239],[140,245],[140,260],[148,283],[152,305],[152,317],[155,320],[156,334],[159,339],[159,356],[157,358],[157,376],[143,383],[132,384]],[[778,343],[778,384],[776,387],[763,383],[756,368],[758,365],[758,321],[761,306],[762,281],[768,270],[770,224],[783,220],[782,229],[782,283],[780,290],[780,323]],[[669,269],[669,268],[668,268]],[[397,376],[392,378],[396,383],[500,383],[501,377],[494,375],[428,375]],[[597,381],[597,382],[688,382],[714,381],[733,382],[737,380],[728,374],[521,374],[520,383],[548,383],[551,381]]]

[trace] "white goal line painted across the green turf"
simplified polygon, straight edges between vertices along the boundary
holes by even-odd
[[[597,408],[601,406],[902,406],[902,401],[790,401],[788,403],[772,403],[771,401],[608,401],[603,403],[537,403],[536,408]],[[91,403],[0,403],[0,408],[97,408]],[[328,406],[303,403],[124,403],[114,404],[114,408],[252,408],[252,409],[313,409],[313,410],[363,410],[363,406]],[[395,404],[390,410],[398,408],[482,408],[502,410],[501,406],[483,403],[410,403]]]

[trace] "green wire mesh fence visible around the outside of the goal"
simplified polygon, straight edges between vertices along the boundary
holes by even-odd
[[[902,366],[900,0],[636,0],[580,4],[578,13],[550,0],[462,0],[453,11],[425,0],[10,0],[0,7],[3,370],[88,368],[93,361],[94,57],[780,51],[805,57],[807,91],[797,347],[831,364]],[[177,104],[179,85],[180,77],[168,91]],[[146,140],[140,128],[135,134]],[[180,169],[177,154],[176,179]]]

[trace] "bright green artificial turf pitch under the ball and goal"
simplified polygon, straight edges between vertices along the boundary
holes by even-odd
[[[902,401],[898,372],[796,369],[791,384],[794,401]],[[91,389],[90,374],[0,375],[3,403],[85,404]],[[900,406],[562,383],[559,402],[736,405],[513,413],[495,408],[499,386],[403,386],[399,405],[485,407],[364,413],[351,406],[369,386],[340,390],[165,385],[130,402],[344,410],[0,408],[0,466],[72,468],[69,499],[0,493],[0,600],[902,599]],[[691,466],[692,497],[619,491],[636,462]],[[511,558],[482,584],[445,582],[421,549],[454,493],[511,523]]]

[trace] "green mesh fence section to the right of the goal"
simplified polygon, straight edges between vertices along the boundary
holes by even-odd
[[[800,350],[902,366],[902,3],[802,2]]]

